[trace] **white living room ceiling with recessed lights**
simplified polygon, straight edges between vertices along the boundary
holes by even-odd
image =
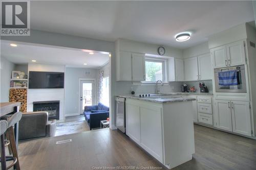
[[[10,46],[11,41],[1,40],[1,57],[15,64],[40,63],[66,65],[68,67],[99,68],[109,61],[109,54],[94,52],[93,55],[80,49],[46,46],[17,42],[17,47]],[[36,60],[36,62],[32,62]],[[87,65],[83,65],[87,63]]]

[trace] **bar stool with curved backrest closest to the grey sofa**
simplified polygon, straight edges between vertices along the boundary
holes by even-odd
[[[8,127],[6,130],[6,137],[10,140],[10,142],[5,144],[5,141],[3,141],[2,145],[4,145],[4,147],[2,147],[2,152],[5,152],[5,145],[10,144],[13,156],[3,157],[3,161],[6,158],[6,161],[13,160],[13,163],[6,168],[6,162],[5,162],[5,165],[4,165],[5,168],[2,167],[3,170],[9,169],[12,166],[14,166],[17,170],[20,169],[19,161],[18,161],[18,153],[17,153],[16,143],[15,143],[15,138],[14,138],[13,125],[16,124],[17,122],[19,122],[19,120],[21,118],[22,118],[22,112],[16,112],[11,117],[9,117],[7,119]],[[2,138],[4,139],[4,135],[3,135],[3,137],[1,136],[1,141],[2,141]],[[1,158],[2,158],[2,155],[1,155]],[[1,163],[2,163],[2,159],[1,159]]]

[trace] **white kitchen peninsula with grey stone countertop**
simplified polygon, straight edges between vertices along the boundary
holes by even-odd
[[[168,168],[195,153],[193,98],[126,96],[126,135]]]

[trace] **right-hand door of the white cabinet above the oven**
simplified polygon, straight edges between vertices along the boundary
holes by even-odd
[[[227,59],[229,66],[245,64],[244,41],[227,45]]]

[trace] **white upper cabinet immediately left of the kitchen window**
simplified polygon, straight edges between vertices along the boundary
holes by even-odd
[[[116,53],[116,81],[144,80],[144,54],[118,51]]]

